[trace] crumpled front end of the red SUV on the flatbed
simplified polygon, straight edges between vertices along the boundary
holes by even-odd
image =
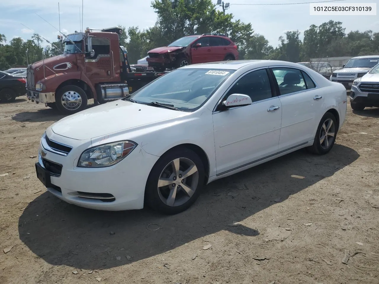
[[[148,55],[147,63],[158,72],[190,64],[187,47],[158,47],[150,50]]]

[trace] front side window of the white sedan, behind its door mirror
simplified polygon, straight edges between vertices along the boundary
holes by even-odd
[[[271,98],[271,85],[266,69],[253,71],[244,75],[229,90],[226,97],[233,94],[248,95],[253,102]]]

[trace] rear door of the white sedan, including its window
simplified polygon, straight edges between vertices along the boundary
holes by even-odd
[[[295,68],[272,68],[282,104],[279,151],[314,139],[315,125],[324,98],[310,76]]]

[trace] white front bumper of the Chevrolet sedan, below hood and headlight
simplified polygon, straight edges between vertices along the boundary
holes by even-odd
[[[51,173],[51,187],[47,190],[70,204],[77,206],[120,211],[142,209],[147,177],[159,157],[146,153],[139,145],[119,163],[104,168],[77,167],[81,153],[91,147],[90,140],[69,139],[47,131],[50,140],[70,145],[72,150],[63,156],[54,153],[41,139],[38,149],[39,164],[53,162],[61,165],[60,173]],[[42,157],[42,155],[44,155]],[[112,196],[102,200],[99,196]]]

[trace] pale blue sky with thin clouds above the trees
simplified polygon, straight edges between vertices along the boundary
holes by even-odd
[[[217,0],[212,0],[215,4]],[[255,33],[262,34],[276,47],[278,38],[286,31],[299,30],[301,39],[310,25],[320,25],[328,20],[340,21],[346,32],[372,30],[379,32],[379,12],[376,16],[310,16],[309,4],[246,6],[238,4],[279,4],[310,2],[312,0],[224,0],[230,3],[227,12],[234,19],[250,22]],[[320,0],[313,0],[318,2]],[[59,31],[58,2],[60,3],[60,29],[64,34],[80,31],[82,3],[80,0],[1,0],[0,34],[7,42],[14,37],[29,39],[34,32],[50,42],[56,41]],[[83,28],[102,29],[117,25],[138,26],[141,30],[154,25],[157,16],[151,0],[84,0]],[[337,3],[337,2],[336,2]],[[377,3],[379,0],[346,0],[338,3]],[[219,8],[221,9],[221,8]],[[41,16],[43,19],[38,17]],[[24,27],[23,25],[28,28]],[[55,28],[53,28],[54,26]],[[46,45],[44,42],[42,45]]]

